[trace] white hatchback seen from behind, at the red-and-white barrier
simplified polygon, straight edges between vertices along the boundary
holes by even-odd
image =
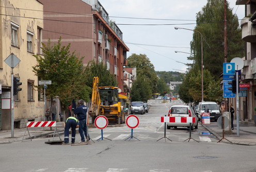
[[[178,116],[178,117],[196,117],[196,123],[191,125],[191,130],[198,128],[198,117],[190,106],[187,105],[175,105],[169,110],[168,116]],[[167,123],[167,129],[177,127],[190,127],[189,123]]]

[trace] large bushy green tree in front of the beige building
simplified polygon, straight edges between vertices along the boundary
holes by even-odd
[[[44,57],[34,55],[38,64],[33,66],[33,72],[41,80],[52,81],[51,85],[47,85],[46,96],[58,96],[63,108],[67,108],[73,98],[88,101],[90,89],[83,79],[83,57],[77,57],[75,52],[70,54],[70,44],[61,46],[61,38],[53,46],[49,39],[41,48]]]

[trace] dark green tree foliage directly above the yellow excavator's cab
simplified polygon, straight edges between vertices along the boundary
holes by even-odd
[[[84,81],[86,85],[91,88],[94,76],[99,77],[99,86],[118,87],[115,75],[110,74],[109,70],[107,70],[107,66],[104,65],[103,62],[96,63],[95,61],[90,61],[86,66]]]

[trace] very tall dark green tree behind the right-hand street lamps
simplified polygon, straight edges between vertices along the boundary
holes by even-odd
[[[224,4],[222,0],[207,0],[207,4],[197,13],[197,26],[195,30],[200,31],[203,36],[203,65],[216,78],[222,72],[224,62]],[[244,56],[244,42],[241,39],[242,31],[239,28],[236,14],[227,3],[227,62],[234,57]],[[195,54],[195,67],[201,68],[201,36],[194,32],[193,41],[190,43],[191,53]],[[213,65],[214,64],[214,65]]]

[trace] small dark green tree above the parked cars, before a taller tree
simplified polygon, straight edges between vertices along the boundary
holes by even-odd
[[[147,102],[151,98],[152,92],[149,86],[149,79],[141,75],[133,82],[130,96],[132,101]]]

